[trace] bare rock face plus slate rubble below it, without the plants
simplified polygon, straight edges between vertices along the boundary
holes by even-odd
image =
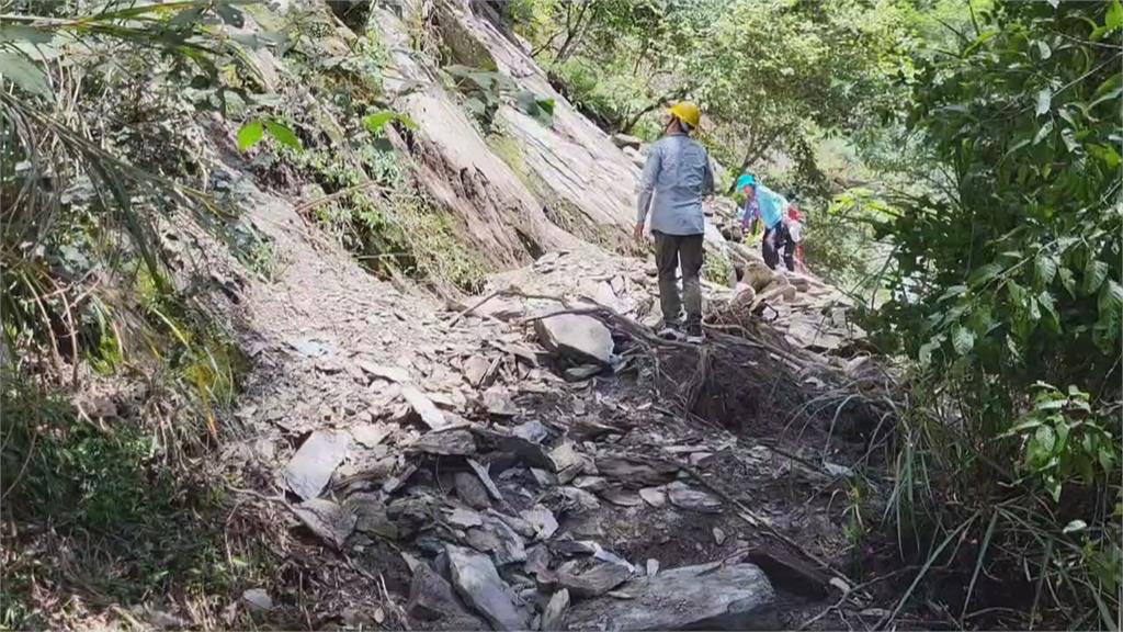
[[[387,136],[457,238],[504,271],[458,301],[380,280],[307,222],[314,196],[285,193],[308,182],[277,187],[231,129],[213,135],[216,173],[240,182],[277,253],[268,277],[217,247],[206,261],[230,280],[254,365],[221,461],[235,511],[282,526],[263,539],[299,569],[225,604],[225,624],[774,629],[834,603],[850,583],[831,498],[873,416],[840,387],[869,376],[839,354],[855,334],[839,294],[725,243],[719,202],[707,246],[742,282],[707,282],[705,345],[654,338],[652,269],[627,244],[632,157],[486,7],[387,2],[365,24],[393,66],[383,89],[417,123]],[[554,99],[548,125],[499,107],[519,161],[418,28],[446,62]]]

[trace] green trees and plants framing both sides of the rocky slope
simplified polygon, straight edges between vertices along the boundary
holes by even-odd
[[[284,19],[234,0],[3,9],[0,430],[3,500],[17,506],[6,520],[65,513],[66,529],[103,533],[124,515],[137,551],[183,515],[207,522],[170,472],[218,441],[248,359],[198,288],[175,286],[188,255],[168,244],[188,210],[263,278],[273,254],[231,210],[245,193],[208,170],[207,138],[223,123],[253,156],[247,172],[343,200],[311,209],[310,225],[371,273],[444,294],[482,287],[478,253],[400,159],[410,141],[391,142],[419,121],[383,92],[398,70],[393,46],[364,30],[369,3],[293,4]],[[719,193],[740,202],[732,183],[754,173],[806,213],[809,265],[853,295],[867,351],[895,367],[909,401],[893,422],[886,508],[848,524],[855,551],[888,534],[919,570],[898,608],[942,567],[966,586],[949,615],[959,626],[1117,630],[1120,0],[481,4],[604,132],[650,143],[668,105],[696,101]],[[262,28],[244,29],[247,17]],[[340,20],[350,39],[320,49]],[[411,54],[447,56],[428,21],[409,24]],[[497,145],[510,141],[494,126],[505,105],[551,124],[554,101],[494,63],[446,63],[437,82]],[[134,356],[175,403],[149,410],[158,422],[110,439],[55,406],[65,367],[75,382],[80,363],[116,377],[137,371]],[[183,550],[173,577],[201,563]],[[165,586],[141,558],[122,558],[137,592]],[[227,567],[192,581],[226,586]],[[1029,596],[974,594],[994,577]],[[13,595],[6,586],[4,629],[28,613]],[[976,624],[976,607],[1010,617]]]

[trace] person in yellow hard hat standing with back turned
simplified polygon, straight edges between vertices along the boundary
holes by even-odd
[[[713,193],[713,169],[705,148],[690,136],[699,126],[699,107],[683,101],[667,114],[665,134],[651,146],[643,165],[634,236],[637,242],[642,241],[643,224],[650,208],[664,322],[659,335],[681,335],[679,312],[685,298],[687,341],[701,342],[702,283],[699,273],[702,270],[702,235],[705,233],[702,197]],[[679,267],[683,271],[682,297],[675,282],[675,272]]]

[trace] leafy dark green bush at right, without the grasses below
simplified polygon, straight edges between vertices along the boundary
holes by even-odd
[[[1021,406],[1003,394],[1037,380],[1117,391],[1120,48],[1085,39],[1104,13],[999,4],[962,57],[928,66],[912,125],[951,195],[905,200],[880,226],[904,351],[988,377],[973,381],[999,424]]]

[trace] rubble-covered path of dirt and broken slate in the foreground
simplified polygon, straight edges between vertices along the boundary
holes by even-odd
[[[792,626],[832,603],[810,558],[837,563],[846,549],[842,503],[831,505],[844,477],[758,442],[789,434],[779,412],[755,439],[686,422],[619,335],[614,373],[546,352],[523,320],[549,300],[495,298],[450,326],[456,312],[372,278],[291,206],[261,199],[252,219],[284,260],[245,295],[256,368],[237,413],[245,440],[226,458],[256,491],[247,503],[286,525],[299,589],[279,577],[255,616],[518,628],[555,626],[560,610],[588,628],[665,610],[679,619],[660,625]],[[651,304],[642,262],[592,250],[493,285],[591,296],[637,318]],[[737,575],[749,561],[770,586]],[[710,602],[652,606],[675,598],[660,590],[684,567]],[[723,594],[739,585],[757,588]]]

